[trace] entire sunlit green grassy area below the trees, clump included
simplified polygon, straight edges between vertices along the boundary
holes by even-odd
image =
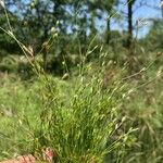
[[[51,147],[61,163],[163,162],[162,66],[95,63],[66,80],[0,74],[0,160]]]

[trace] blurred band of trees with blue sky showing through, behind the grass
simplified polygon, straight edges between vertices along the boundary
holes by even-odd
[[[65,72],[61,63],[66,60],[68,70],[77,65],[79,55],[87,52],[92,39],[91,48],[98,47],[91,54],[91,59],[87,59],[88,61],[98,58],[102,46],[103,50],[109,52],[108,60],[118,62],[128,60],[128,64],[134,64],[129,63],[133,61],[131,58],[142,59],[147,58],[148,52],[161,51],[162,7],[159,1],[154,5],[151,2],[146,0],[103,2],[98,0],[22,0],[16,2],[9,0],[5,1],[5,5],[17,39],[30,47],[34,55],[42,58],[42,65],[47,72],[63,75]],[[140,10],[141,17],[137,10]],[[145,10],[145,13],[141,10]],[[153,10],[156,11],[152,12]],[[151,12],[154,16],[147,16],[146,12]],[[3,9],[0,13],[0,25],[8,30]],[[0,33],[1,70],[21,71],[20,60],[23,55],[21,48],[10,36],[2,30]],[[58,37],[53,39],[52,45],[42,48],[55,33]],[[45,50],[40,51],[41,48]],[[10,65],[4,66],[3,62],[7,62],[8,57],[9,62],[14,63],[11,61],[12,57],[16,60],[15,62],[20,61],[18,65],[21,65],[15,68],[10,68]]]

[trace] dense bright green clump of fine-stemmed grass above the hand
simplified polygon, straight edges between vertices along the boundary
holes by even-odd
[[[40,146],[46,141],[53,148],[59,162],[102,162],[106,154],[127,143],[131,130],[115,134],[124,123],[117,116],[121,101],[108,91],[101,92],[99,83],[96,77],[87,83],[78,80],[65,96],[67,100],[60,99],[55,84],[47,91],[52,97],[46,100],[41,116],[45,134]]]

